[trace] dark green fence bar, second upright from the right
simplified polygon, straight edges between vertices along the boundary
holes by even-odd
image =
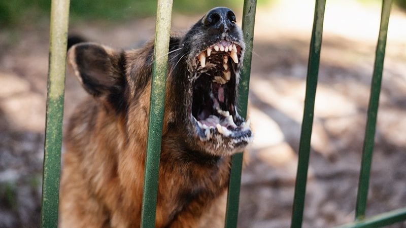
[[[304,99],[303,119],[300,133],[299,159],[297,165],[291,227],[301,227],[303,219],[325,5],[325,0],[316,0],[306,81],[306,97]]]

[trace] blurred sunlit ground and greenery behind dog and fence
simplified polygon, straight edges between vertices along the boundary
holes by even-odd
[[[241,24],[243,1],[221,1]],[[174,0],[173,31],[218,1]],[[260,0],[239,227],[289,227],[315,2]],[[367,216],[406,206],[406,1],[392,7]],[[0,227],[38,227],[50,1],[0,1]],[[70,33],[115,48],[154,35],[155,1],[71,0]],[[327,1],[303,227],[354,218],[381,1]],[[66,77],[64,126],[87,96]],[[391,227],[406,227],[405,222]]]

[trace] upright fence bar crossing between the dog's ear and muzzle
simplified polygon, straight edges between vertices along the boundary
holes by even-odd
[[[162,122],[165,104],[167,59],[171,30],[172,0],[158,0],[155,28],[154,65],[148,119],[147,155],[145,160],[142,227],[155,227],[158,194],[158,171],[161,153]],[[159,57],[159,58],[158,58]]]

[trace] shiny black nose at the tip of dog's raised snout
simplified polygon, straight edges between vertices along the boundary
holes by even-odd
[[[216,7],[210,10],[201,22],[210,30],[228,32],[234,27],[235,14],[228,8]]]

